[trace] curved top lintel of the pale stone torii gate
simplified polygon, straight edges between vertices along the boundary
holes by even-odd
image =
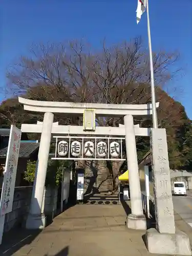
[[[152,104],[102,104],[102,103],[77,103],[59,101],[38,101],[18,97],[24,104],[24,110],[33,112],[52,112],[66,114],[83,114],[85,109],[94,109],[97,116],[142,116],[152,115]],[[159,102],[156,103],[158,108]]]

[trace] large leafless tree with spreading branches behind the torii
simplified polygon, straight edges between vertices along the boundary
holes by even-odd
[[[103,42],[99,52],[83,41],[69,44],[38,45],[31,48],[32,57],[22,56],[7,72],[8,91],[37,100],[138,104],[151,102],[150,63],[141,38],[108,48]],[[176,53],[153,54],[157,92],[178,74]],[[161,90],[160,90],[161,89]],[[176,88],[173,88],[176,91]],[[159,100],[160,97],[158,97]],[[170,106],[170,105],[169,105]],[[162,112],[162,109],[160,110]],[[173,112],[173,109],[167,114]],[[160,115],[161,117],[162,115]],[[82,118],[60,123],[82,123]],[[146,125],[148,119],[137,119]],[[159,124],[163,125],[163,120]],[[99,125],[117,126],[122,118],[98,118]],[[111,163],[114,186],[122,163]]]

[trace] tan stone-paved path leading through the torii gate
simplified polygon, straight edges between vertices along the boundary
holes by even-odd
[[[127,229],[125,217],[122,205],[75,205],[57,216],[40,233],[24,234],[25,231],[20,229],[14,236],[5,236],[0,255],[157,255],[147,252],[142,240],[144,231]],[[13,240],[22,233],[28,237],[16,244]]]

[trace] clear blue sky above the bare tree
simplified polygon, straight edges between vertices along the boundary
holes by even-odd
[[[177,99],[192,119],[192,1],[149,0],[152,49],[180,52],[184,76],[175,83],[182,88]],[[1,84],[6,68],[33,42],[60,42],[86,38],[99,47],[141,35],[147,45],[146,13],[136,24],[137,0],[3,0],[1,2]],[[0,100],[4,95],[0,95]]]

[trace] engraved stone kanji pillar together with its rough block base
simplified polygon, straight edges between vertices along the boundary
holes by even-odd
[[[165,129],[152,129],[151,155],[156,229],[146,231],[146,247],[151,253],[191,255],[188,236],[175,228]]]

